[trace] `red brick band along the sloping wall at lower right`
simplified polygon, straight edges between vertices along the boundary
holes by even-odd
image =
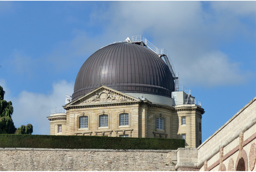
[[[248,143],[250,143],[252,140],[256,139],[256,133],[252,134],[249,138],[247,138],[246,140],[244,140],[243,142],[243,147],[245,145],[247,145]],[[231,155],[233,155],[234,153],[236,153],[239,150],[239,145],[237,145],[235,148],[233,148],[231,151],[229,151],[226,155],[223,156],[223,161],[226,160],[228,157],[230,157]],[[220,164],[220,160],[214,162],[210,167],[207,168],[207,171],[211,171],[214,167],[216,167],[217,165]],[[248,166],[247,166],[248,168]]]

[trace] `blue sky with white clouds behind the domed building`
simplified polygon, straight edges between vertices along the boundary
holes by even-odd
[[[142,35],[201,101],[202,140],[256,96],[256,1],[0,1],[0,85],[16,127],[49,134],[100,47]]]

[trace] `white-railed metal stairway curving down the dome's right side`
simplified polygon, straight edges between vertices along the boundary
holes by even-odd
[[[175,82],[175,91],[176,91],[176,88],[179,88],[179,73],[177,73],[177,76],[176,76],[175,68],[172,64],[172,60],[170,59],[170,56],[169,56],[167,50],[164,48],[158,49],[156,46],[154,46],[152,43],[150,43],[146,38],[144,38],[141,35],[140,36],[132,36],[131,43],[145,46],[145,47],[151,49],[153,52],[155,52],[160,58],[164,57],[165,63],[168,66],[168,68],[172,74],[173,80]]]

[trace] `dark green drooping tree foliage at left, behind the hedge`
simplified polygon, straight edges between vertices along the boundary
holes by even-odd
[[[13,106],[12,102],[4,100],[5,91],[0,86],[0,134],[31,134],[33,126],[28,124],[22,125],[16,129],[12,121]]]

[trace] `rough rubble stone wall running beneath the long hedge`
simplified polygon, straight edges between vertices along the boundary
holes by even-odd
[[[0,171],[175,171],[176,150],[0,148]]]

